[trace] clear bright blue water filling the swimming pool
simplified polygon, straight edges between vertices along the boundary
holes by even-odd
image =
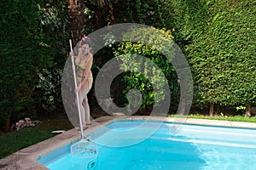
[[[155,123],[147,122],[132,131],[134,134],[115,133],[141,123],[113,122],[107,126],[112,130],[102,128],[90,134],[98,150],[93,167],[88,166],[87,160],[74,159],[70,144],[38,161],[52,170],[256,169],[255,129],[183,125],[172,134],[172,123],[165,122],[149,138],[144,138]],[[129,143],[139,138],[142,140]]]

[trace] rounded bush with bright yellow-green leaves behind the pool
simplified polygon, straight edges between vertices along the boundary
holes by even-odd
[[[159,37],[159,34],[155,34],[156,31],[165,36]],[[127,84],[124,93],[137,88],[143,94],[143,108],[154,103],[157,105],[165,99],[166,83],[171,85],[172,93],[176,94],[177,75],[171,60],[163,55],[174,56],[173,49],[170,48],[171,31],[143,28],[130,31],[125,37],[132,38],[134,42],[121,42],[114,51],[116,58],[123,62],[121,69],[127,72],[123,78]],[[165,77],[168,82],[165,82]]]

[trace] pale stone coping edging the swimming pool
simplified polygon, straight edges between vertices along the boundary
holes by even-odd
[[[208,120],[208,119],[192,119],[192,118],[176,118],[176,117],[165,117],[165,116],[102,116],[97,118],[92,122],[89,128],[87,128],[84,133],[92,133],[96,129],[115,121],[122,120],[150,120],[150,121],[164,121],[164,122],[175,122],[184,124],[194,124],[194,125],[205,125],[205,126],[218,126],[218,127],[245,127],[245,128],[255,128],[256,123],[253,122],[232,122],[232,121],[218,121],[218,120]],[[73,128],[66,132],[56,135],[53,138],[46,139],[38,144],[33,144],[22,150],[16,151],[14,154],[0,159],[0,169],[1,170],[46,170],[43,164],[37,161],[38,158],[44,156],[54,150],[61,148],[64,145],[71,144],[75,140],[79,139],[79,130]]]

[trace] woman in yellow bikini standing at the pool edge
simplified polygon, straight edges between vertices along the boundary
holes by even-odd
[[[93,77],[90,71],[93,61],[93,56],[90,53],[90,39],[83,37],[79,42],[79,55],[75,58],[76,74],[78,87],[75,92],[79,92],[79,104],[82,118],[83,128],[90,125],[90,107],[88,104],[87,94],[92,86]]]

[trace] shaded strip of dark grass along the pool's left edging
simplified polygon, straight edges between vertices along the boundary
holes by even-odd
[[[0,159],[17,150],[21,150],[32,144],[37,144],[45,139],[55,136],[54,130],[68,130],[73,126],[65,117],[45,119],[36,127],[26,127],[19,131],[0,136]]]

